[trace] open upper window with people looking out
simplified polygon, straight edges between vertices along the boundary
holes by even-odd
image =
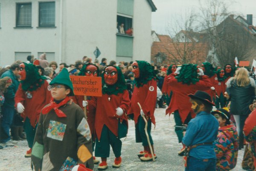
[[[127,36],[133,35],[132,17],[117,15],[116,22],[116,33],[125,34]]]

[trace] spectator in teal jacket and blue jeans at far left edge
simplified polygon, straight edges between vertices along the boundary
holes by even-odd
[[[1,132],[2,143],[7,143],[9,140],[11,140],[9,132],[10,132],[10,126],[12,125],[13,117],[15,114],[14,98],[15,98],[15,93],[19,86],[19,81],[18,81],[19,68],[20,68],[20,63],[15,62],[11,65],[10,70],[6,71],[1,76],[1,78],[8,76],[12,79],[12,84],[8,87],[8,89],[4,93],[5,102],[2,107],[3,118],[2,118],[2,125],[1,125],[3,130],[3,133]]]

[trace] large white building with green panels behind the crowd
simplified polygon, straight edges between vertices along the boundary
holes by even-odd
[[[150,62],[152,11],[152,0],[0,0],[0,64],[44,52],[57,63],[94,60],[96,47],[99,61]]]

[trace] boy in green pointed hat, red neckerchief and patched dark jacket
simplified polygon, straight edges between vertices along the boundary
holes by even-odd
[[[66,68],[49,88],[52,100],[41,111],[32,148],[35,170],[71,170],[77,163],[93,169],[89,125],[83,110],[70,101],[74,93]]]

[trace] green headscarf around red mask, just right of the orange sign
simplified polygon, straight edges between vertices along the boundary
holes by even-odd
[[[104,79],[104,73],[107,67],[115,67],[117,70],[117,81],[116,84],[114,85],[108,85],[105,82]],[[127,86],[125,84],[125,76],[123,75],[122,71],[120,70],[119,67],[113,66],[113,65],[108,65],[105,67],[104,72],[102,73],[102,93],[103,94],[108,94],[108,95],[117,95],[118,93],[123,93],[124,90],[127,90]]]

